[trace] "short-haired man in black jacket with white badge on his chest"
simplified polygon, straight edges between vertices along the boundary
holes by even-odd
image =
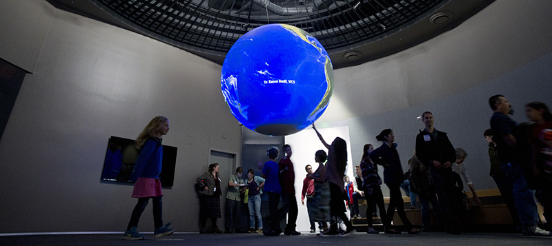
[[[451,202],[454,201],[454,183],[451,165],[456,161],[456,152],[445,132],[433,127],[433,114],[424,112],[425,128],[416,136],[416,157],[428,167],[439,197],[439,204],[446,219],[446,230],[460,234],[460,223]]]

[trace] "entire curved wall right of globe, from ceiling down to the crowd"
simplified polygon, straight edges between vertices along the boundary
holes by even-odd
[[[434,39],[339,69],[332,101],[320,121],[348,120],[351,167],[359,163],[365,143],[379,146],[375,136],[393,129],[406,171],[415,136],[424,127],[416,117],[431,111],[435,127],[468,152],[465,163],[476,189],[494,189],[482,137],[492,114],[487,101],[504,94],[518,122],[526,121],[526,103],[552,105],[550,8],[551,1],[495,1]]]

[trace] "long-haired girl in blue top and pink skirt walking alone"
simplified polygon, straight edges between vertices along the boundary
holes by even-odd
[[[155,238],[161,238],[175,232],[174,229],[168,228],[170,223],[163,225],[163,192],[161,191],[161,181],[159,180],[161,165],[163,165],[161,136],[166,135],[168,130],[168,119],[164,116],[156,116],[146,125],[136,139],[135,145],[140,150],[140,154],[136,160],[136,165],[130,175],[130,179],[135,182],[132,197],[138,198],[138,203],[132,210],[132,216],[130,216],[130,221],[123,236],[124,240],[144,239],[144,235],[137,232],[137,227],[140,216],[144,212],[144,209],[146,209],[150,198],[153,201]]]

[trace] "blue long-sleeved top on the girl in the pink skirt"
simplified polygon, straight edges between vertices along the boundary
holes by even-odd
[[[163,147],[161,146],[161,139],[148,139],[142,146],[130,179],[133,182],[136,182],[138,178],[159,179],[162,164]]]

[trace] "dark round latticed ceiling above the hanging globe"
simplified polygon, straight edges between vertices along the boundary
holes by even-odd
[[[489,0],[49,0],[221,64],[243,34],[268,23],[316,37],[335,68],[393,54],[451,30]]]

